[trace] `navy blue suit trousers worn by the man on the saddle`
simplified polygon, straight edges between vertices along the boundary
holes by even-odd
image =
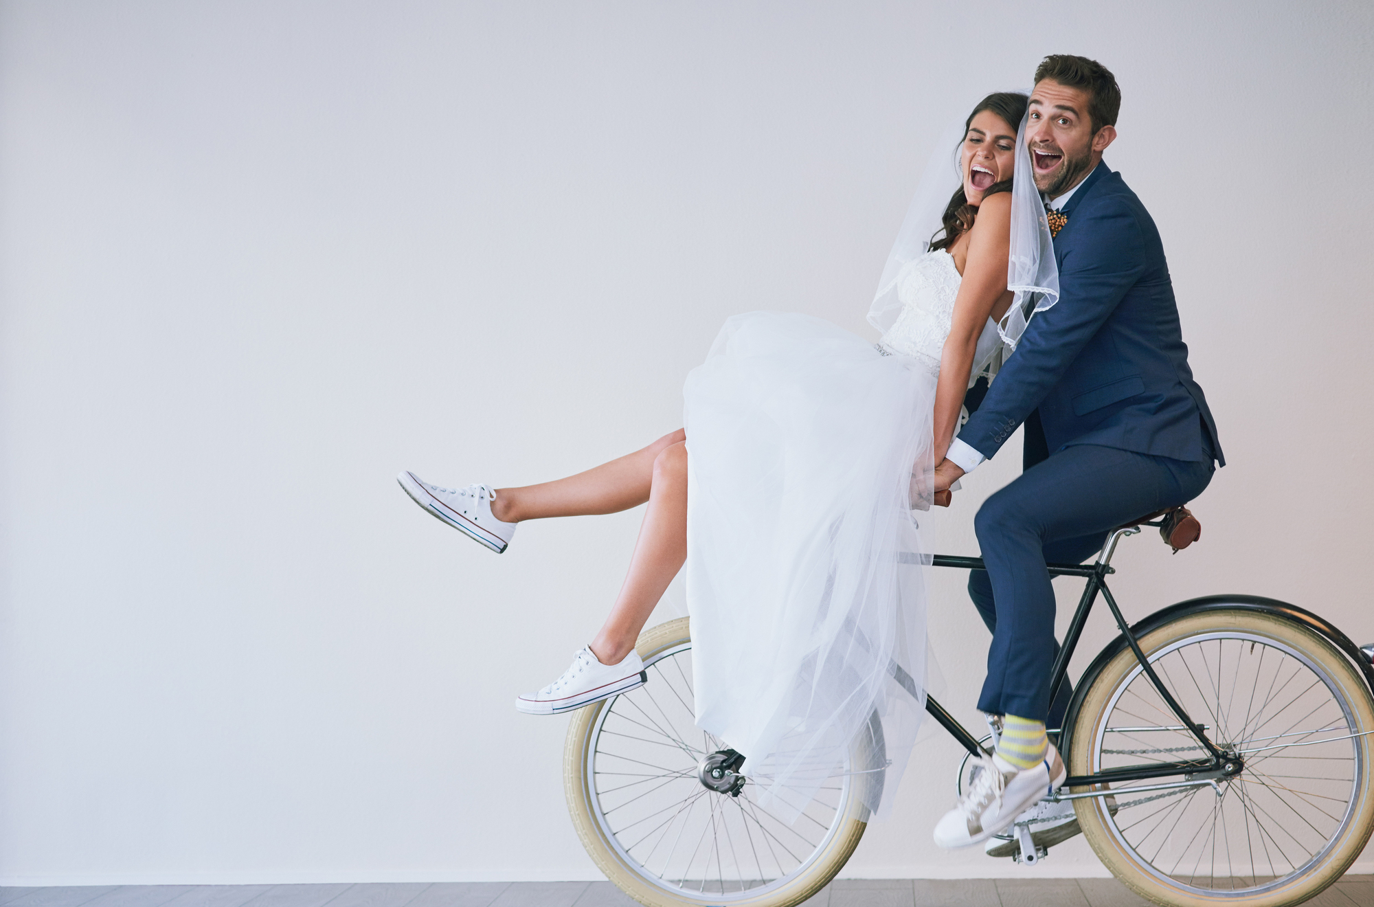
[[[974,529],[991,596],[978,573],[969,580],[969,592],[992,629],[978,709],[1058,727],[1050,721],[1050,671],[1059,646],[1046,562],[1087,559],[1116,526],[1197,497],[1212,471],[1210,460],[1074,445],[1030,466],[988,497]],[[1062,719],[1068,693],[1055,705]]]

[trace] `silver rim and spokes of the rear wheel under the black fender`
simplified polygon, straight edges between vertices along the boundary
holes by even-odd
[[[1342,687],[1323,673],[1329,662],[1305,654],[1305,642],[1292,649],[1275,642],[1285,639],[1200,631],[1151,656],[1180,708],[1212,721],[1209,738],[1243,757],[1241,774],[1221,781],[1217,796],[1200,787],[1143,811],[1127,809],[1134,804],[1123,800],[1116,814],[1096,814],[1134,859],[1180,892],[1230,897],[1319,871],[1316,856],[1347,833],[1353,797],[1369,783],[1360,756],[1374,738],[1366,741],[1352,724]],[[1147,675],[1128,664],[1116,676],[1106,712],[1092,719],[1099,728],[1091,742],[1094,771],[1187,760],[1189,750],[1201,750],[1187,731],[1165,731],[1178,717],[1161,708]],[[1149,782],[1117,786],[1116,797],[1128,797],[1132,783]]]

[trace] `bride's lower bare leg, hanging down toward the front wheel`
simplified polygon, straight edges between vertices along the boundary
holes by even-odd
[[[651,475],[649,510],[639,528],[629,573],[610,617],[591,643],[603,665],[620,664],[635,647],[654,605],[687,559],[687,445],[680,438],[654,456]]]

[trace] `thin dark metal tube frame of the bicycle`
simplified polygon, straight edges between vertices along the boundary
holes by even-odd
[[[963,570],[984,570],[987,569],[982,563],[982,558],[956,558],[944,554],[937,554],[932,558],[933,566],[948,566],[959,568]],[[1047,563],[1050,569],[1050,576],[1081,576],[1087,579],[1087,585],[1083,590],[1083,596],[1079,599],[1079,607],[1073,613],[1073,621],[1069,624],[1069,632],[1065,634],[1063,646],[1059,649],[1059,657],[1054,661],[1054,671],[1050,680],[1050,701],[1054,702],[1055,695],[1059,693],[1059,687],[1063,686],[1063,679],[1069,673],[1069,658],[1073,657],[1073,650],[1079,645],[1079,638],[1083,635],[1083,627],[1088,621],[1088,614],[1092,612],[1092,605],[1096,602],[1098,592],[1106,599],[1107,607],[1112,609],[1112,617],[1116,618],[1117,627],[1121,628],[1121,634],[1125,636],[1127,643],[1131,646],[1131,651],[1135,653],[1136,661],[1145,671],[1145,675],[1154,684],[1154,688],[1160,693],[1165,705],[1173,712],[1173,715],[1183,723],[1189,731],[1198,739],[1202,748],[1208,752],[1208,757],[1202,760],[1190,760],[1179,763],[1150,763],[1147,765],[1125,765],[1123,768],[1109,768],[1106,771],[1099,771],[1092,775],[1070,775],[1063,783],[1069,787],[1080,787],[1090,785],[1102,783],[1117,783],[1124,781],[1146,781],[1150,778],[1168,778],[1171,775],[1189,775],[1201,771],[1212,771],[1220,767],[1221,760],[1227,759],[1227,754],[1216,748],[1216,745],[1208,739],[1202,727],[1189,717],[1189,713],[1183,710],[1183,706],[1173,698],[1173,694],[1160,682],[1160,678],[1154,673],[1153,665],[1140,651],[1140,643],[1136,640],[1135,634],[1131,632],[1131,625],[1127,623],[1125,617],[1121,616],[1121,609],[1117,607],[1116,599],[1112,596],[1112,591],[1107,588],[1106,576],[1107,573],[1116,573],[1107,563]],[[943,705],[934,701],[933,697],[926,697],[926,710],[944,727],[949,734],[959,741],[959,745],[974,756],[982,756],[987,750],[978,743],[978,738],[969,732],[969,730],[960,724],[949,712],[945,710]],[[1066,716],[1072,717],[1072,716]],[[1231,757],[1234,759],[1234,756]]]

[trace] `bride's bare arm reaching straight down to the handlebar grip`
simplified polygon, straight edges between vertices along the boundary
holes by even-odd
[[[936,385],[934,458],[944,459],[959,423],[963,394],[978,337],[989,316],[1000,317],[1011,301],[1007,293],[1007,254],[1011,243],[1011,194],[998,192],[978,206],[978,219],[969,231],[969,257],[954,304],[954,324],[940,356]]]

